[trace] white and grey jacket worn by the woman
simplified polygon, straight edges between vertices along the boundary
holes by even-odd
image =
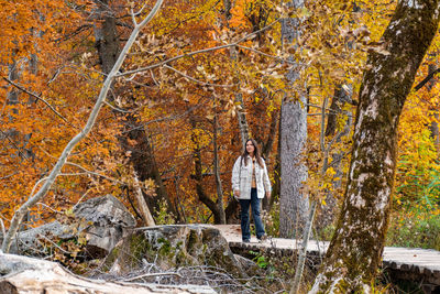
[[[264,198],[265,192],[271,193],[271,181],[268,179],[266,163],[263,167],[255,163],[256,194],[258,198]],[[241,156],[235,161],[232,168],[232,190],[240,190],[240,199],[251,199],[252,184],[252,159],[248,155],[248,165],[241,162]]]

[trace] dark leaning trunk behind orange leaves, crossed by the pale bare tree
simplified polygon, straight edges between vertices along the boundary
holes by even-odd
[[[114,65],[120,53],[117,20],[110,8],[109,2],[111,1],[105,0],[96,2],[100,8],[101,14],[99,22],[95,25],[96,47],[98,50],[102,72],[108,74]],[[109,100],[112,101],[113,98],[109,97]],[[164,199],[167,203],[168,211],[176,215],[174,205],[172,204],[168,193],[166,192],[165,185],[162,181],[148,133],[144,130],[136,115],[125,116],[124,113],[119,112],[117,112],[117,115],[124,116],[125,118],[125,120],[123,120],[123,135],[119,137],[119,141],[122,149],[131,153],[130,163],[138,174],[139,181],[151,178],[156,184],[155,193],[157,197],[144,197],[145,202],[148,204],[150,210],[157,211],[160,200]],[[129,144],[127,142],[128,139],[136,142],[134,146],[133,144]]]

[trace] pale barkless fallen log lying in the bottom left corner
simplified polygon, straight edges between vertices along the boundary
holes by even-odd
[[[216,293],[209,286],[110,282],[76,275],[55,262],[0,251],[0,293]]]

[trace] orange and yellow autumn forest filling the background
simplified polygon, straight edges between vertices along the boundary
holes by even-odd
[[[388,54],[380,37],[397,1],[282,2],[165,1],[25,226],[106,194],[142,225],[140,188],[155,224],[238,224],[231,170],[251,137],[268,165],[274,189],[265,222],[278,236],[287,164],[280,134],[290,130],[280,124],[282,105],[294,102],[307,111],[298,156],[308,177],[299,193],[318,203],[318,235],[329,239],[333,218],[323,216],[334,216],[342,198],[366,55]],[[3,231],[86,123],[133,30],[130,10],[143,4],[0,1]],[[389,246],[440,250],[439,42],[437,35],[415,85],[431,78],[414,87],[399,121]]]

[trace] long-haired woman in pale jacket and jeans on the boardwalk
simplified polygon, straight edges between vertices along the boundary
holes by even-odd
[[[260,216],[260,202],[264,195],[271,197],[271,181],[266,164],[260,156],[260,149],[255,140],[249,139],[243,154],[237,159],[232,168],[232,190],[240,200],[241,207],[241,237],[243,242],[251,241],[249,206],[252,207],[252,217],[255,224],[256,238],[263,241],[266,238],[263,221]]]

